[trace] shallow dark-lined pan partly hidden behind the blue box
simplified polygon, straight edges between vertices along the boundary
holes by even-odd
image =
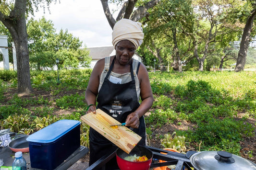
[[[29,152],[29,142],[26,140],[26,138],[28,137],[28,135],[26,136],[22,136],[22,137],[18,137],[14,140],[12,140],[12,142],[9,143],[9,147],[13,152]]]

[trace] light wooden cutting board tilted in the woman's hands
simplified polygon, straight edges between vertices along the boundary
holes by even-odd
[[[121,123],[100,109],[96,110],[96,114],[83,115],[81,120],[128,154],[142,138],[126,126],[112,128],[110,125]]]

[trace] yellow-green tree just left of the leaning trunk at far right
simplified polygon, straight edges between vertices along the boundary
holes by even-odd
[[[194,55],[198,61],[198,70],[204,70],[206,58],[218,51],[215,47],[224,48],[228,42],[234,41],[238,26],[230,24],[228,12],[234,6],[239,6],[240,0],[194,0],[197,16],[197,31]],[[216,45],[222,44],[222,46]]]

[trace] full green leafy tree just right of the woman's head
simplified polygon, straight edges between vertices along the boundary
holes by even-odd
[[[161,0],[152,9],[146,26],[145,44],[157,54],[160,65],[167,56],[171,56],[172,68],[180,72],[182,61],[188,61],[192,50],[191,40],[187,38],[187,34],[192,34],[194,25],[191,7],[189,0]],[[160,57],[160,50],[165,59]]]

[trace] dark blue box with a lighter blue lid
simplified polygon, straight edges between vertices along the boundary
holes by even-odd
[[[80,147],[80,122],[60,120],[30,135],[32,168],[53,170]]]

